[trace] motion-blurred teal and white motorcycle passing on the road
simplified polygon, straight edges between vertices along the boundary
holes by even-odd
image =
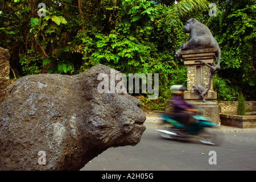
[[[201,110],[203,113],[203,110]],[[162,114],[164,123],[168,124],[167,130],[157,130],[163,138],[178,139],[178,138],[197,138],[199,142],[212,146],[217,146],[222,143],[223,133],[218,130],[219,126],[212,123],[211,119],[197,113],[193,114],[195,122],[185,127],[178,121],[175,121],[168,114]],[[171,126],[171,127],[170,127]]]

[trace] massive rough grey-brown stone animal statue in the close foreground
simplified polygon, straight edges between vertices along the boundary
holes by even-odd
[[[141,102],[127,93],[98,93],[100,73],[110,68],[16,80],[1,104],[0,169],[79,170],[109,147],[137,144],[146,129]]]

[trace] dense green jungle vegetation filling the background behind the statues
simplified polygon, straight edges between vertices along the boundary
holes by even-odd
[[[171,85],[186,85],[187,69],[174,54],[189,40],[183,26],[193,17],[220,44],[221,70],[214,76],[218,100],[237,100],[239,92],[255,100],[255,2],[1,0],[0,46],[9,49],[13,80],[38,73],[76,75],[98,63],[126,74],[159,73],[159,98],[144,103],[161,109]],[[216,12],[209,3],[217,5]]]

